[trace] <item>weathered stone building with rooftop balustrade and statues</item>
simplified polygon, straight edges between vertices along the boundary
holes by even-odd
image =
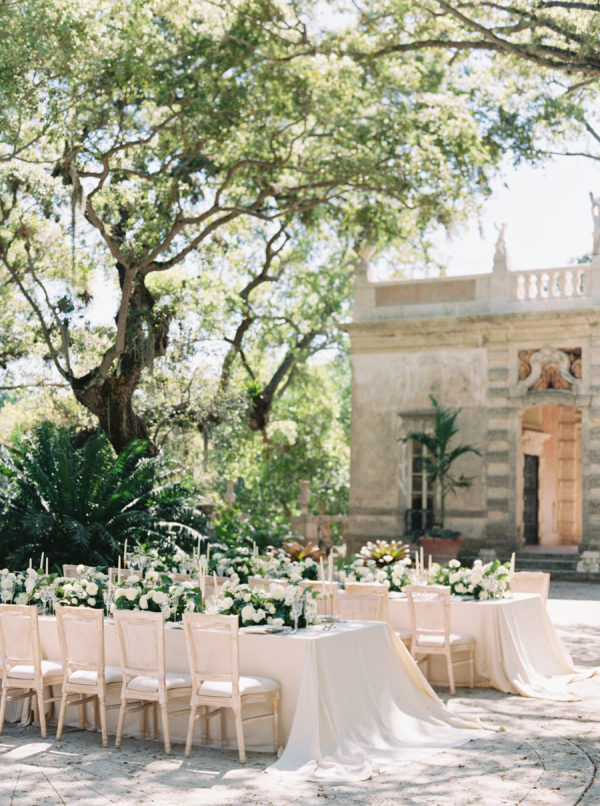
[[[419,446],[402,437],[430,427],[433,394],[461,408],[457,439],[480,451],[460,460],[472,486],[447,499],[464,553],[600,549],[599,324],[600,255],[511,271],[503,230],[491,273],[374,283],[359,266],[351,544],[431,518]]]

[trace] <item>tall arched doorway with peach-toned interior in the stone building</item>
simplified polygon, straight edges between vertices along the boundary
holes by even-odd
[[[521,412],[520,531],[525,545],[581,541],[581,411],[533,406]]]

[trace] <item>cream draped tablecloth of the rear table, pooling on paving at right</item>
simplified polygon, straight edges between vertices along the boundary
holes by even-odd
[[[409,630],[408,601],[390,595],[390,623]],[[509,694],[551,700],[576,700],[568,684],[596,673],[577,669],[557,636],[546,607],[537,594],[513,594],[510,599],[469,601],[452,598],[452,631],[475,638],[475,685]],[[446,684],[445,661],[431,658],[430,679]],[[468,682],[468,668],[457,666],[458,685]]]

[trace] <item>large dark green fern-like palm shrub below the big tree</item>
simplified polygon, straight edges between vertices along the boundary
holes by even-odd
[[[81,445],[67,428],[43,423],[0,449],[0,563],[17,568],[41,552],[52,563],[109,565],[125,540],[196,540],[202,515],[163,457],[143,441],[118,456],[97,432]]]

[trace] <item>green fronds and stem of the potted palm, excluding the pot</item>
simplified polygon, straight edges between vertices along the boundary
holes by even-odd
[[[452,468],[456,460],[466,453],[476,453],[477,448],[471,445],[450,446],[453,437],[458,433],[456,418],[461,409],[453,409],[442,406],[433,395],[429,395],[433,405],[433,429],[431,431],[412,431],[403,437],[403,442],[415,440],[420,445],[424,445],[427,454],[423,457],[423,469],[427,474],[427,479],[436,485],[437,498],[439,502],[439,519],[437,526],[444,529],[446,517],[446,496],[456,492],[459,488],[470,487],[473,478],[455,475]]]

